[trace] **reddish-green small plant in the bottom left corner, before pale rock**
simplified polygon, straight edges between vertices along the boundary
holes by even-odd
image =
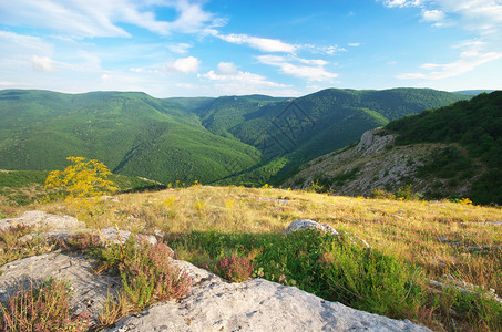
[[[0,303],[0,330],[12,332],[86,331],[88,313],[71,314],[70,286],[65,281],[48,279],[38,286],[31,284]]]

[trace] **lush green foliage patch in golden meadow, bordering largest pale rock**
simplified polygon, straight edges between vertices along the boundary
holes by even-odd
[[[240,257],[254,257],[256,277],[380,314],[402,318],[422,301],[414,267],[317,230],[288,236],[191,232],[171,235],[167,241],[176,251],[204,252],[215,261],[238,248]]]

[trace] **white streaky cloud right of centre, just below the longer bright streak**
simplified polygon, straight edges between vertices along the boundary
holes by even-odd
[[[330,81],[338,76],[337,73],[328,72],[325,65],[328,64],[324,60],[307,60],[299,58],[284,58],[277,55],[260,55],[257,56],[258,61],[279,68],[279,70],[288,75],[307,79],[308,81]],[[298,62],[301,64],[295,64],[291,62]],[[307,64],[307,65],[304,65]]]

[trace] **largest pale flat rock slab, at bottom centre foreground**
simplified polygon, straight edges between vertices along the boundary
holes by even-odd
[[[126,317],[106,331],[430,331],[325,301],[295,287],[264,279],[228,283],[189,266],[183,263],[197,273],[198,283],[188,297]]]

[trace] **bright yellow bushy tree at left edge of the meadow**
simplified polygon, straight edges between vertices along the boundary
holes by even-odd
[[[107,179],[112,173],[103,163],[83,157],[68,157],[72,165],[53,170],[45,179],[45,189],[55,189],[54,198],[84,199],[112,194],[117,189]]]

